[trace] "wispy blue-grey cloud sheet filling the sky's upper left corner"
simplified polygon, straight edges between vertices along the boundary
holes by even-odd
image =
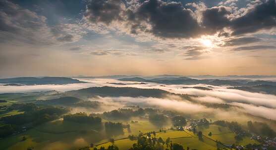
[[[0,0],[0,42],[49,46],[78,41],[86,33],[78,23],[49,26],[45,16]]]

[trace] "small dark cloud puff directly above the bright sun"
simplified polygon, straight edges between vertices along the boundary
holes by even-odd
[[[207,33],[215,34],[230,23],[227,18],[229,14],[230,11],[223,6],[208,8],[202,12],[202,26]]]

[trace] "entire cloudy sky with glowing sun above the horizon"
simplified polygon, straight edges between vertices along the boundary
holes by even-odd
[[[0,77],[276,75],[275,0],[0,0]]]

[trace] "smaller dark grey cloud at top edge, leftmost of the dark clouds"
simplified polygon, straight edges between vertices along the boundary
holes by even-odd
[[[90,0],[87,4],[86,15],[90,21],[110,24],[112,21],[121,20],[123,12],[121,0]]]

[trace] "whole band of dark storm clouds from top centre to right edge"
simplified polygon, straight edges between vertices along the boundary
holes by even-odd
[[[276,27],[276,2],[267,0],[243,8],[246,13],[234,15],[232,8],[214,6],[200,10],[201,21],[194,9],[187,9],[181,2],[162,0],[136,0],[127,5],[122,0],[91,0],[87,4],[88,19],[94,23],[124,22],[130,34],[146,33],[160,38],[197,38],[202,35],[228,37],[254,33]],[[231,17],[230,17],[231,16]]]

